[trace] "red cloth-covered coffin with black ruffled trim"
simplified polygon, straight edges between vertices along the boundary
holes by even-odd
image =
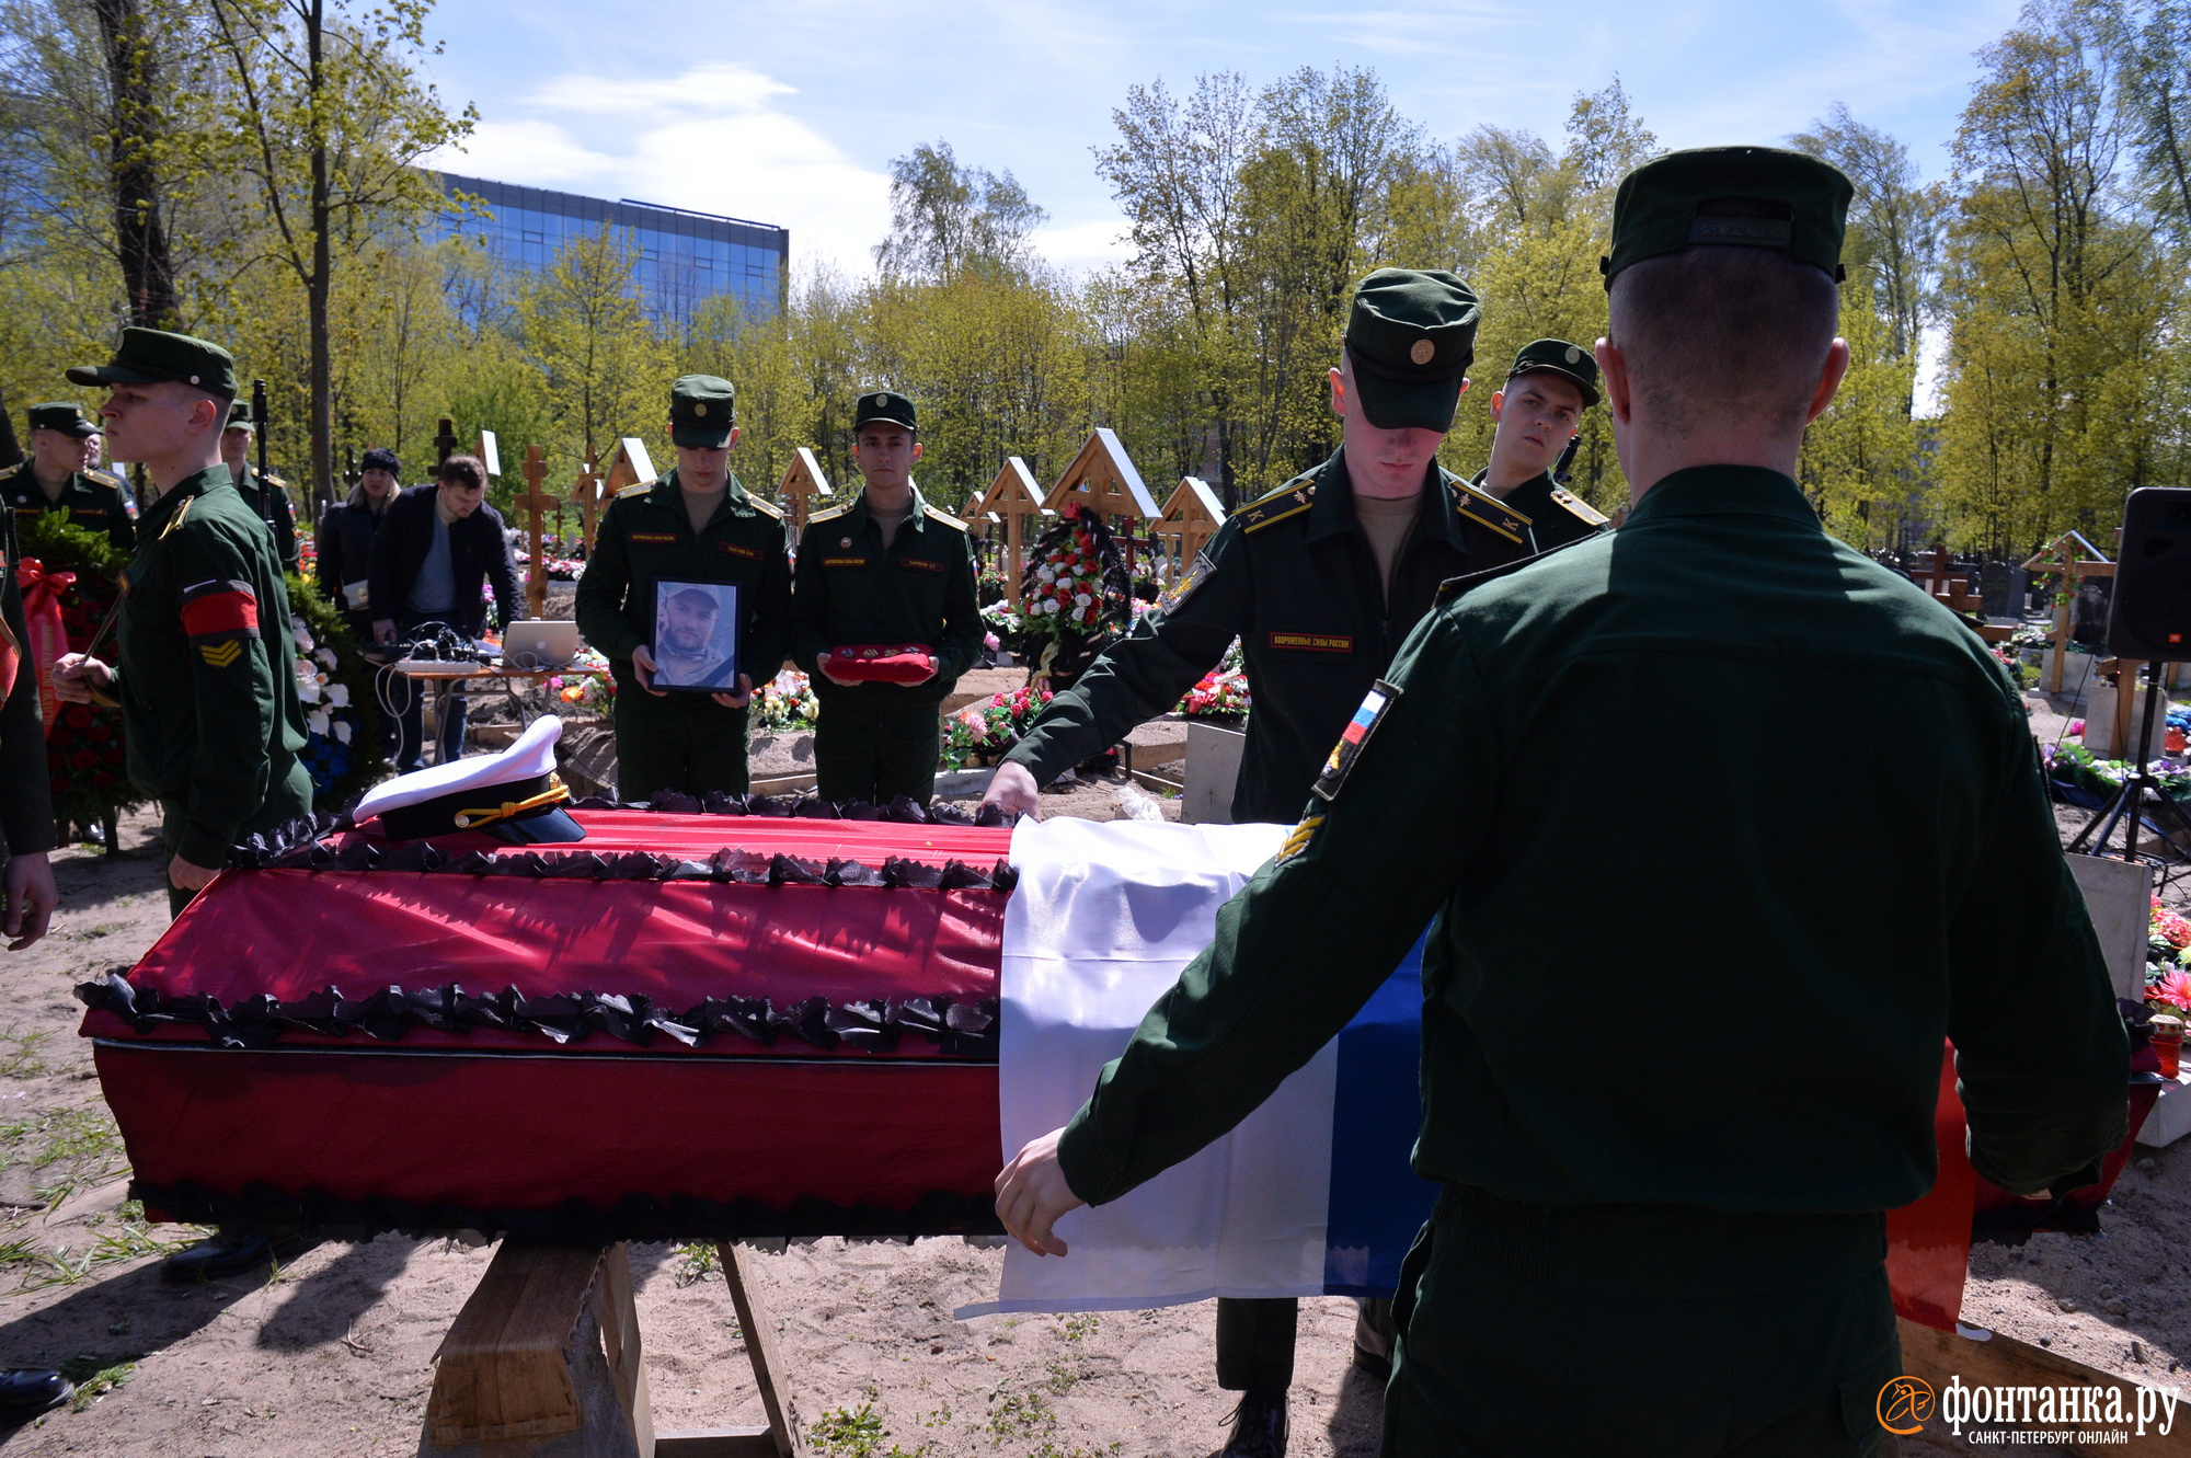
[[[351,832],[318,867],[228,871],[79,990],[147,1211],[574,1239],[997,1228],[1008,830],[576,819],[563,847]],[[340,869],[383,852],[434,869]]]

